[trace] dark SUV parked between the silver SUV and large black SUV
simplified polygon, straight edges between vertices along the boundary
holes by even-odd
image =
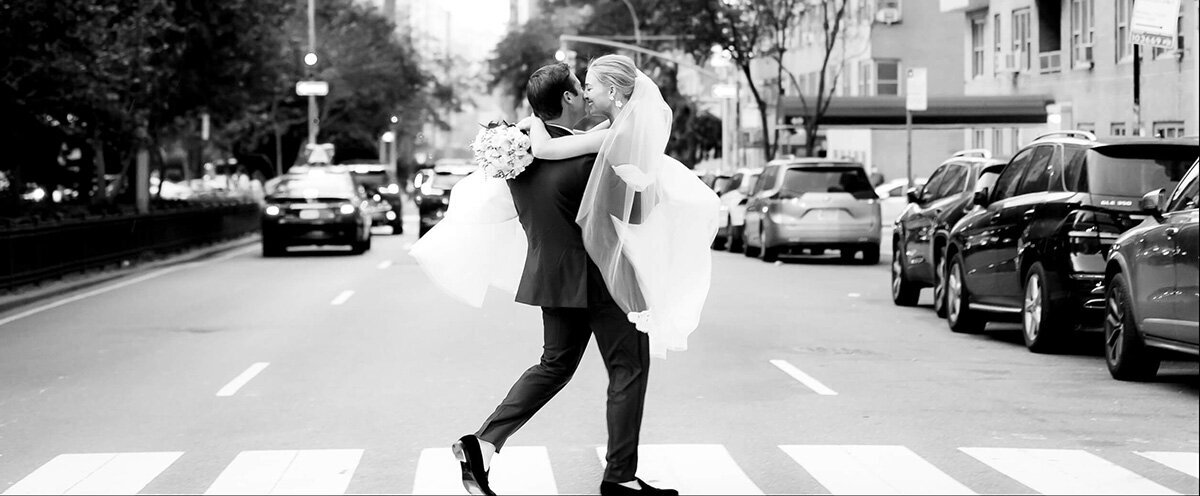
[[[946,317],[946,245],[950,228],[974,208],[974,192],[991,187],[1008,162],[986,150],[962,150],[942,162],[892,231],[892,301],[913,306],[920,289],[934,288],[934,310]]]

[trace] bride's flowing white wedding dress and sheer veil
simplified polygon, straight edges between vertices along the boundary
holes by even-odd
[[[671,121],[658,86],[638,73],[576,217],[610,293],[660,358],[686,349],[700,324],[720,207],[712,189],[664,153]],[[508,185],[480,171],[455,185],[445,217],[410,253],[438,287],[478,307],[488,286],[515,293],[526,246]]]

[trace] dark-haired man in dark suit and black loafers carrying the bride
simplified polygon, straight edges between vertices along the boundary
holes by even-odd
[[[580,80],[565,64],[548,65],[529,76],[526,96],[554,138],[571,135],[571,127],[588,114]],[[463,485],[472,494],[494,494],[487,482],[492,454],[570,382],[594,334],[608,369],[607,467],[600,494],[678,495],[636,477],[649,342],[608,294],[575,223],[594,160],[595,155],[534,160],[509,180],[529,238],[516,300],[541,306],[545,343],[541,361],[512,384],[479,431],[454,443]],[[563,428],[569,429],[570,423],[563,422]]]

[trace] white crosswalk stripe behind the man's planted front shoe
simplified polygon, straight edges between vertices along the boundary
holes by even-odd
[[[607,449],[596,448],[605,466]],[[637,476],[653,486],[680,495],[761,495],[762,490],[721,444],[643,444]]]

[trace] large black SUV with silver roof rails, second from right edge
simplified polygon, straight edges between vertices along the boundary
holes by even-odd
[[[1146,213],[1142,195],[1180,181],[1195,138],[1100,143],[1086,131],[1044,135],[1004,167],[980,208],[950,231],[947,321],[960,333],[1019,319],[1025,346],[1049,352],[1104,309],[1105,257]]]

